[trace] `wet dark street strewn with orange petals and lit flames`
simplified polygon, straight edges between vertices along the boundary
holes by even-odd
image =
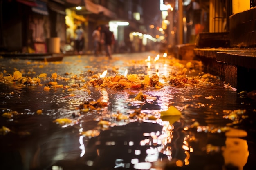
[[[1,57],[0,89],[1,170],[254,169],[255,92],[198,60]]]

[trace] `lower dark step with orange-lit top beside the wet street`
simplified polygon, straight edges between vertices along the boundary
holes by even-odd
[[[256,49],[202,48],[194,52],[206,71],[219,75],[237,91],[256,90]]]

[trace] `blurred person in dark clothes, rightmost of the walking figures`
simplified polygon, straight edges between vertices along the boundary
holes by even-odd
[[[109,30],[109,26],[105,25],[101,35],[101,40],[105,44],[106,55],[112,59],[112,44],[114,44],[114,34]]]

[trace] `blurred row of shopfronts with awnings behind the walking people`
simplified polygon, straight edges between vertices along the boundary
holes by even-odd
[[[105,24],[115,35],[116,53],[145,51],[156,42],[144,24],[142,0],[1,0],[0,5],[2,52],[72,51],[78,25],[85,31],[85,53],[92,53],[95,27]]]

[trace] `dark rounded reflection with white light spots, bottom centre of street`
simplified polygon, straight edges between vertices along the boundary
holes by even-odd
[[[101,132],[88,141],[83,159],[92,169],[150,169],[164,148],[158,137],[162,126],[151,122],[132,122]],[[164,157],[161,154],[161,157]]]

